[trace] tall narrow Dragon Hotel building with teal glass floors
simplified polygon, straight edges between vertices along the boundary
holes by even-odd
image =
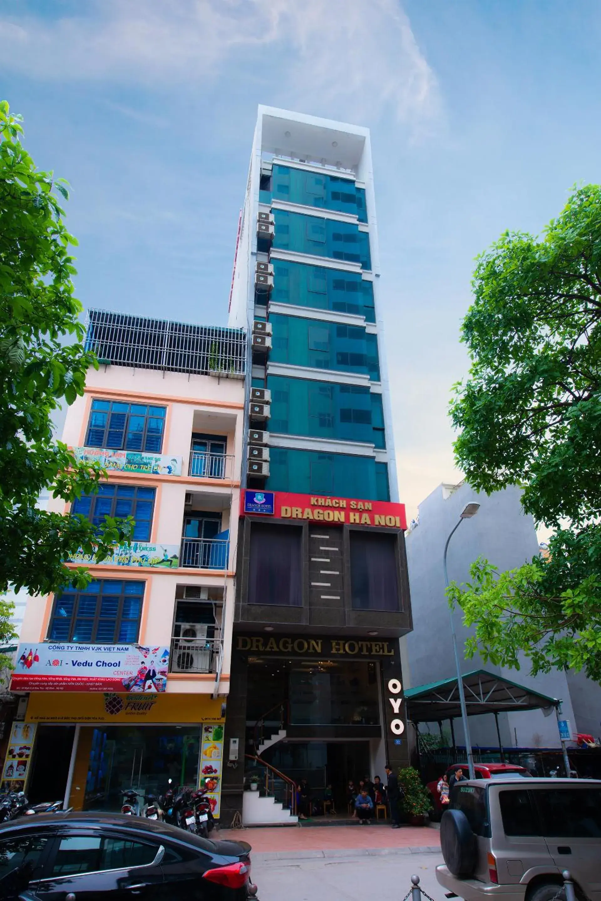
[[[294,819],[301,778],[342,809],[349,778],[408,762],[378,282],[369,131],[260,106],[230,298],[249,341],[222,809],[247,824]]]

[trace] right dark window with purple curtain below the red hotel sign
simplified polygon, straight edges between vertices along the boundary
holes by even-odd
[[[398,610],[396,535],[351,532],[354,610]]]

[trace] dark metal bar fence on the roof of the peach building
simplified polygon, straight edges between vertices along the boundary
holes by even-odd
[[[172,323],[90,310],[86,350],[101,363],[138,369],[163,369],[195,375],[243,378],[246,337],[243,329]]]

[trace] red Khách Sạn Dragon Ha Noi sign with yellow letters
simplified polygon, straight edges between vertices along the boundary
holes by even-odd
[[[248,497],[250,503],[245,502]],[[293,495],[283,491],[259,492],[246,488],[241,491],[241,516],[255,511],[254,498],[268,501],[269,516],[278,519],[313,520],[319,523],[346,523],[348,525],[376,525],[385,529],[406,529],[405,504],[389,501],[366,501],[357,497],[332,497],[328,495]],[[271,504],[271,498],[273,503]],[[273,513],[271,513],[273,510]],[[260,512],[257,509],[256,512]],[[265,512],[261,511],[262,515]]]

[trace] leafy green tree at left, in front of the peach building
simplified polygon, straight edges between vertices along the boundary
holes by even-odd
[[[105,473],[55,441],[52,413],[82,395],[96,359],[83,347],[76,270],[58,196],[66,183],[41,172],[23,148],[20,118],[0,103],[0,593],[47,594],[84,587],[87,569],[68,569],[78,548],[103,560],[127,541],[131,521],[38,509],[42,489],[70,502],[97,491]],[[0,613],[0,621],[2,614]]]

